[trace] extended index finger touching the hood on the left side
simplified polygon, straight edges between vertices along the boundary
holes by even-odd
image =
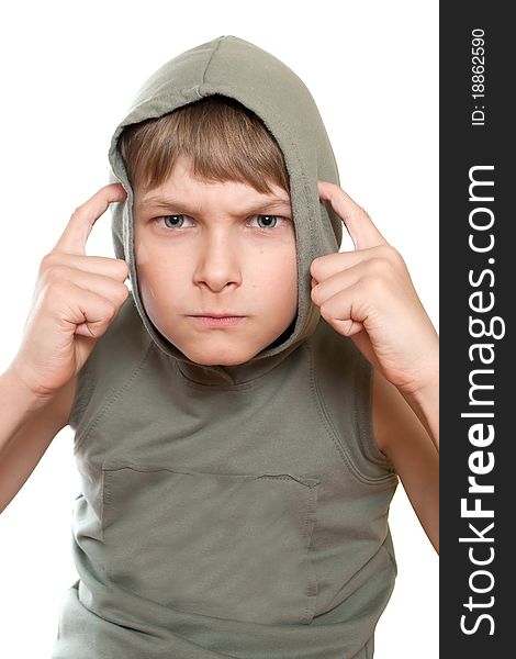
[[[110,183],[101,188],[74,211],[52,252],[86,254],[86,242],[93,224],[105,213],[111,202],[123,201],[126,197],[127,193],[121,183]]]

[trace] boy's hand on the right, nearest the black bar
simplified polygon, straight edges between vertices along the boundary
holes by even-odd
[[[416,395],[436,382],[439,339],[405,261],[339,186],[318,181],[317,187],[345,223],[355,252],[312,261],[312,300],[390,382]]]

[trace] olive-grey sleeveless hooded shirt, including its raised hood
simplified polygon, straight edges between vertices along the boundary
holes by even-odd
[[[134,263],[124,126],[222,93],[272,132],[289,171],[298,314],[249,361],[201,366],[153,325]],[[310,297],[310,265],[338,250],[338,183],[304,83],[222,36],[141,88],[109,153],[113,244],[132,292],[79,372],[70,427],[80,476],[53,659],[370,659],[396,565],[397,477],[372,432],[372,367]]]

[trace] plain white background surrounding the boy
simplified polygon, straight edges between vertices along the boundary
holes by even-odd
[[[133,96],[161,64],[223,34],[269,51],[304,80],[341,187],[402,253],[438,331],[437,2],[20,1],[0,10],[0,372],[18,350],[41,258],[108,182],[111,133]],[[109,213],[87,254],[114,256]],[[0,655],[9,659],[49,658],[60,600],[77,579],[71,447],[66,427],[0,516]],[[402,487],[391,527],[399,577],[375,659],[435,659],[438,558]]]

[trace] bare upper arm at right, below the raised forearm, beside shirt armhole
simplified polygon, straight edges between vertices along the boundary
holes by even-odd
[[[422,402],[413,401],[414,409],[396,387],[373,370],[372,416],[377,445],[392,461],[414,512],[438,552],[439,453],[433,436],[438,428],[434,406],[438,389],[426,395],[419,399]]]

